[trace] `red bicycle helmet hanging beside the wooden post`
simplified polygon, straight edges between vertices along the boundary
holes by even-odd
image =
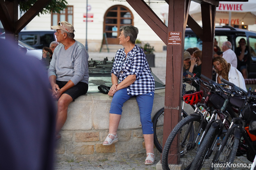
[[[187,104],[194,105],[194,104],[197,104],[198,102],[200,102],[202,100],[202,97],[203,97],[202,90],[200,90],[200,91],[190,90],[190,91],[187,91],[187,93],[183,95],[183,100]]]

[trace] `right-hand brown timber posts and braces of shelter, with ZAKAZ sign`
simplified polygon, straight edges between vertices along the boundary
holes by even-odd
[[[166,90],[164,106],[163,146],[180,120],[182,72],[185,28],[188,25],[191,30],[203,41],[202,46],[202,71],[206,77],[212,77],[212,56],[214,47],[215,14],[220,1],[232,0],[193,0],[201,4],[202,27],[188,14],[191,0],[165,0],[169,4],[168,26],[150,9],[144,0],[126,0],[141,18],[154,30],[167,46],[166,56]],[[237,1],[237,0],[235,0]],[[239,0],[238,0],[239,1]],[[246,2],[248,0],[240,0]],[[180,34],[180,35],[177,35]],[[172,35],[175,35],[174,37]],[[174,43],[172,38],[181,38],[180,43]],[[179,37],[180,36],[180,37]],[[177,39],[179,40],[179,39]],[[176,154],[177,151],[173,150]],[[175,156],[179,161],[180,155]],[[171,161],[171,160],[170,160]],[[171,162],[169,162],[171,163]]]

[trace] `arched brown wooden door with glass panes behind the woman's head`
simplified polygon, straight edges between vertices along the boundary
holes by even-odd
[[[110,7],[104,15],[103,33],[106,33],[108,44],[119,44],[119,28],[123,25],[133,25],[133,14],[123,5]],[[103,41],[103,44],[106,44]]]

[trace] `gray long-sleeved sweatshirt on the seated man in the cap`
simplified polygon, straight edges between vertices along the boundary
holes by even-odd
[[[71,80],[74,85],[80,81],[88,84],[88,58],[88,52],[82,43],[76,41],[67,50],[60,43],[54,50],[48,78],[55,75],[58,81]]]

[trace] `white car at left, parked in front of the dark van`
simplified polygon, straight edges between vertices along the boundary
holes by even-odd
[[[5,39],[5,37],[0,37],[1,39]],[[20,52],[23,52],[26,54],[26,56],[32,56],[39,60],[42,59],[43,56],[43,50],[42,49],[35,49],[34,47],[31,47],[30,45],[23,43],[22,41],[18,41],[18,49]]]

